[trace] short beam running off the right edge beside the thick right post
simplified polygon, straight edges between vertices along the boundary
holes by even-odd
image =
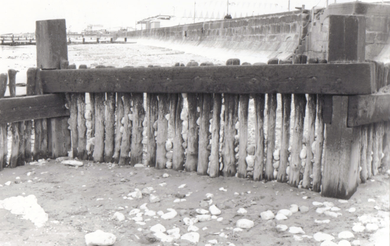
[[[390,121],[390,93],[350,96],[347,126]]]

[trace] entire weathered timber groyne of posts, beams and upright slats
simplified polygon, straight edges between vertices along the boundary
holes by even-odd
[[[354,63],[296,54],[268,64],[229,59],[226,66],[76,69],[63,47],[65,20],[44,21],[47,28],[63,27],[57,36],[48,35],[41,22],[36,33],[42,69],[28,70],[26,97],[0,99],[3,166],[71,151],[82,160],[276,179],[339,198],[349,198],[378,168],[388,168],[390,64],[364,62],[359,52],[335,57],[343,51],[334,49],[328,62]],[[337,30],[332,34],[345,35],[345,28]],[[42,48],[63,52],[47,57]],[[11,97],[14,74],[9,70]],[[7,74],[0,78],[3,92]]]

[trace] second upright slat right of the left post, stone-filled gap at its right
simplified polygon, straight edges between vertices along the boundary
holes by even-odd
[[[87,65],[80,65],[78,69],[87,69]],[[79,160],[86,160],[87,154],[87,127],[85,126],[85,93],[77,93],[77,158]]]

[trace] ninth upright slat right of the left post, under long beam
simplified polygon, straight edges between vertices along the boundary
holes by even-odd
[[[168,120],[166,118],[169,112],[168,94],[158,94],[158,122],[156,139],[156,168],[163,169],[167,165],[167,149],[165,143],[168,139]]]

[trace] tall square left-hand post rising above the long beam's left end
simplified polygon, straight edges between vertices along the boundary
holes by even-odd
[[[65,19],[36,21],[37,67],[60,69],[68,59]],[[71,147],[71,133],[66,117],[48,119],[48,154],[50,158],[67,156]]]

